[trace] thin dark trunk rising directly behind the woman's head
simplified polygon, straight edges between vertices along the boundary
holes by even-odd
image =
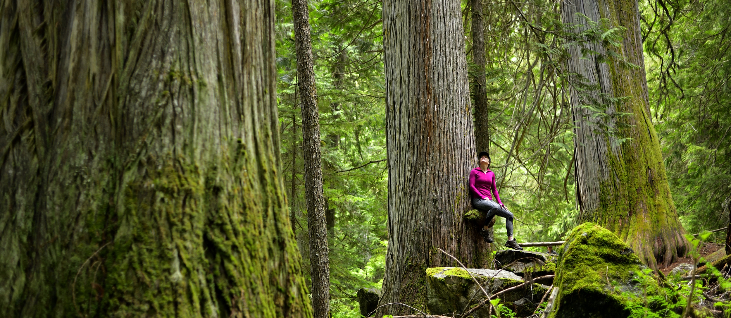
[[[482,17],[482,0],[471,0],[472,13],[472,62],[474,63],[474,143],[477,151],[490,152],[490,126],[488,91],[485,83],[485,26]]]

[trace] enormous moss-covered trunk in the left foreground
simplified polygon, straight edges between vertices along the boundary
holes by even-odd
[[[0,1],[4,317],[311,317],[273,5]]]

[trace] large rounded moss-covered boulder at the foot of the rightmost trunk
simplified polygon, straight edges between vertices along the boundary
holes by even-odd
[[[613,232],[593,223],[572,230],[558,256],[558,287],[548,317],[618,318],[628,317],[626,305],[643,297],[657,295],[654,279],[635,279],[647,268],[634,251]]]

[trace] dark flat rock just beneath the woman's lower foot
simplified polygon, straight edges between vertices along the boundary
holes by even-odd
[[[499,267],[504,270],[510,270],[524,277],[524,273],[529,272],[531,276],[553,275],[556,270],[556,260],[558,256],[555,254],[546,254],[539,251],[516,251],[515,249],[505,249],[497,251],[495,260]],[[550,281],[541,281],[542,284],[551,284]]]

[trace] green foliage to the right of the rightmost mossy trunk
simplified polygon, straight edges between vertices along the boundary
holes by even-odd
[[[731,202],[731,2],[648,0],[640,10],[653,121],[681,222],[689,232],[725,227]]]

